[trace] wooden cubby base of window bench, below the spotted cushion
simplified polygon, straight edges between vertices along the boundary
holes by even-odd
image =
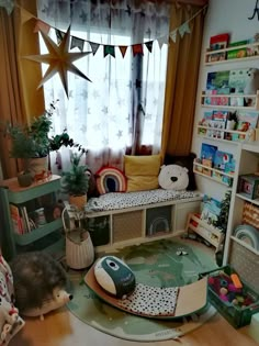
[[[202,196],[110,211],[88,212],[87,227],[97,252],[110,252],[184,233],[187,216]]]

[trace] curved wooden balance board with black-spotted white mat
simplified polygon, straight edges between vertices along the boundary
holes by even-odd
[[[112,256],[104,257],[104,259],[106,260],[109,257],[111,258]],[[114,263],[112,267],[114,267],[112,270],[117,272],[117,277],[120,277],[121,265],[119,266]],[[207,304],[207,278],[182,287],[157,287],[136,282],[134,291],[131,294],[128,293],[128,297],[125,299],[120,299],[108,292],[106,284],[104,284],[105,289],[103,289],[103,286],[97,281],[95,269],[97,267],[92,266],[88,270],[85,277],[87,286],[100,299],[131,314],[148,319],[171,320],[192,315]],[[106,283],[110,284],[111,277],[108,276],[106,279]],[[126,279],[126,282],[127,277],[124,277],[124,279]],[[102,280],[102,284],[104,280]],[[112,286],[114,284],[112,283]]]

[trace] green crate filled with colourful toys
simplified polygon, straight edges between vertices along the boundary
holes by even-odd
[[[239,277],[243,288],[236,289],[230,276],[237,274],[230,266],[201,272],[200,279],[209,277],[209,301],[235,327],[250,323],[252,314],[259,312],[259,294]],[[222,288],[225,288],[221,290]],[[227,292],[227,293],[226,293]]]

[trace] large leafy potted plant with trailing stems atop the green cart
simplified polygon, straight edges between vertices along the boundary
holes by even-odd
[[[34,118],[30,125],[8,124],[5,135],[11,138],[12,147],[10,156],[21,158],[24,161],[24,170],[35,174],[48,170],[48,155],[58,150],[61,146],[77,147],[85,153],[85,148],[69,137],[65,129],[61,134],[49,136],[53,124],[55,102],[50,103],[49,110]]]

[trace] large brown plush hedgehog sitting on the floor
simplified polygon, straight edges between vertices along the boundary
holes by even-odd
[[[10,264],[14,299],[21,314],[40,316],[64,306],[72,295],[61,265],[44,252],[20,254]]]

